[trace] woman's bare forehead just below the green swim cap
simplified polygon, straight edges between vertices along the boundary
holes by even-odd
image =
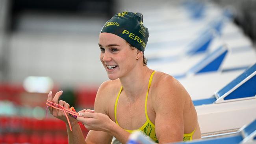
[[[100,33],[99,44],[103,46],[103,45],[108,45],[110,43],[111,44],[115,43],[115,44],[119,44],[119,45],[126,44],[124,39],[122,39],[121,37],[119,37],[113,33]]]

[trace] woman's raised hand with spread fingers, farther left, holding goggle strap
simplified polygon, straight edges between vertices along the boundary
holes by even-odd
[[[53,99],[52,99],[52,92],[49,92],[47,100],[50,101],[50,102],[57,103],[57,104],[59,104],[61,106],[64,106],[66,109],[69,109],[69,103],[67,103],[67,102],[65,102],[63,100],[59,100],[59,97],[61,96],[62,92],[63,92],[62,90],[57,92]],[[58,102],[58,100],[59,100],[59,102]],[[64,121],[66,124],[68,124],[67,118],[66,118],[66,116],[65,116],[63,111],[58,110],[58,109],[54,109],[52,107],[49,107],[49,111],[50,111],[50,113],[54,117]],[[69,117],[70,124],[77,123],[76,119],[74,119],[73,117],[69,116],[68,113],[67,113],[67,115]]]

